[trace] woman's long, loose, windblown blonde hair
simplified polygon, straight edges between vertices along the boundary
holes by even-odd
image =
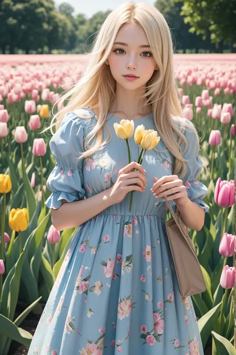
[[[151,47],[153,58],[158,70],[155,70],[150,80],[146,83],[146,92],[142,96],[144,105],[151,105],[154,123],[167,150],[175,157],[173,175],[179,178],[187,172],[186,162],[182,154],[187,149],[187,140],[183,134],[183,128],[189,125],[183,117],[181,97],[177,87],[171,32],[164,16],[158,9],[149,3],[132,1],[123,2],[113,10],[101,26],[91,53],[89,63],[81,79],[64,93],[55,105],[69,98],[68,104],[58,111],[47,129],[56,125],[58,129],[61,120],[67,112],[83,107],[98,107],[97,124],[86,136],[84,141],[85,152],[79,159],[90,157],[95,152],[103,149],[111,139],[111,130],[105,142],[104,125],[108,112],[116,103],[116,80],[113,78],[110,67],[106,61],[112,51],[113,43],[118,30],[123,24],[139,24],[146,33]],[[143,106],[144,106],[143,105]],[[78,114],[80,118],[83,117]],[[86,116],[88,118],[88,116]],[[54,123],[54,121],[56,121]],[[181,125],[176,124],[181,123]],[[179,137],[177,141],[174,132]],[[194,128],[198,139],[198,133]],[[93,141],[93,145],[90,142]],[[185,142],[185,149],[181,152],[180,144]],[[198,139],[199,142],[199,139]],[[179,174],[181,172],[181,174]]]

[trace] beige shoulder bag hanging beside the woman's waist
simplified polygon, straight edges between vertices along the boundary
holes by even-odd
[[[204,292],[206,290],[205,279],[187,228],[180,217],[178,208],[174,213],[170,202],[165,201],[165,203],[173,217],[166,222],[166,230],[180,293],[182,297],[187,297]]]

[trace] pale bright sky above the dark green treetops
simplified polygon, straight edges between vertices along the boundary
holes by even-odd
[[[74,9],[74,15],[77,13],[84,13],[86,16],[91,17],[94,13],[98,11],[106,11],[108,9],[113,10],[115,7],[120,5],[124,0],[54,0],[56,5],[59,5],[62,2],[70,3]],[[134,2],[140,2],[135,1]],[[144,2],[149,2],[154,4],[155,0],[144,0]]]

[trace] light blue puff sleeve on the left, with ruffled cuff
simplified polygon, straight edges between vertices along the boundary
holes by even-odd
[[[74,112],[68,112],[49,142],[56,160],[46,182],[52,191],[45,201],[49,208],[58,209],[62,199],[68,202],[84,199],[83,160],[78,160],[80,153],[84,152],[83,138],[80,118]]]

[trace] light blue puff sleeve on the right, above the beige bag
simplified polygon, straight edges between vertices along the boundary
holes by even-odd
[[[185,130],[184,135],[188,141],[188,147],[186,152],[183,154],[184,159],[188,159],[189,162],[186,163],[187,173],[184,178],[182,178],[184,185],[187,188],[188,198],[198,203],[198,205],[204,209],[205,213],[210,209],[210,207],[202,201],[202,199],[207,195],[208,188],[202,182],[197,180],[197,177],[202,171],[203,162],[199,157],[199,144],[197,137],[193,130],[195,129],[193,123],[188,121],[187,130]],[[182,142],[181,150],[185,148],[185,143]]]

